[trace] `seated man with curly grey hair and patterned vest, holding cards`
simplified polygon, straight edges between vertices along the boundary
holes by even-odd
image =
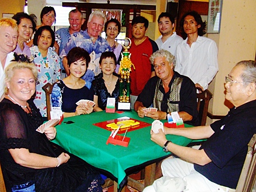
[[[160,49],[151,55],[150,61],[156,76],[148,80],[134,104],[139,117],[167,119],[167,114],[178,111],[185,123],[198,126],[195,84],[174,71],[175,57],[170,52]],[[158,110],[143,110],[151,104]]]

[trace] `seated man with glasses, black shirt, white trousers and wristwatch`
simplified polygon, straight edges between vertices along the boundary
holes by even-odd
[[[247,154],[247,144],[256,133],[256,63],[241,61],[226,77],[225,98],[233,104],[228,115],[209,126],[166,128],[151,131],[151,140],[179,156],[162,162],[163,176],[181,178],[185,191],[235,191]],[[200,149],[182,147],[167,134],[207,139]],[[154,183],[144,192],[155,191]]]

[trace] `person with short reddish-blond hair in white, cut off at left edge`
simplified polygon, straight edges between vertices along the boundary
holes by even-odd
[[[16,20],[3,18],[0,20],[0,101],[5,97],[3,84],[5,68],[14,59],[13,50],[18,41],[18,26]]]

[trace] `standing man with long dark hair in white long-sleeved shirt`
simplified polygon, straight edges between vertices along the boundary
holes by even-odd
[[[206,22],[196,11],[183,15],[180,27],[181,35],[187,39],[177,45],[175,70],[191,78],[196,88],[203,91],[218,72],[216,43],[203,37]]]

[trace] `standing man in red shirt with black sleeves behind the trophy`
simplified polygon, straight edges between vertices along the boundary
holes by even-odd
[[[152,53],[158,51],[158,45],[155,41],[145,36],[148,28],[148,20],[143,16],[133,18],[131,22],[131,62],[135,66],[131,68],[131,108],[138,95],[143,90],[150,77],[155,76],[153,65],[150,63],[150,56]]]

